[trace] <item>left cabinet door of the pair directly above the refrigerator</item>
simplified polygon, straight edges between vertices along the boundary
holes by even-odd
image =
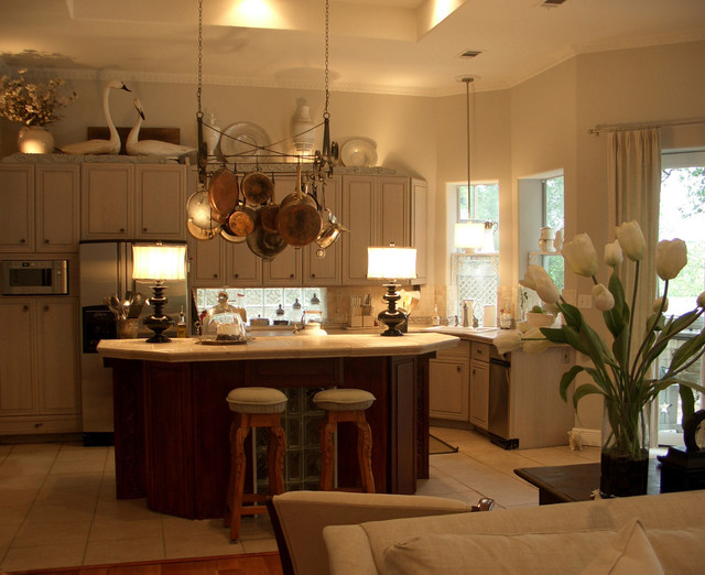
[[[84,164],[82,239],[130,239],[134,166]]]

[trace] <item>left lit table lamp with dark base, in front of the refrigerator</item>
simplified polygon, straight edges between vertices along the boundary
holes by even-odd
[[[154,295],[150,297],[150,305],[154,308],[151,317],[144,318],[144,327],[154,332],[148,344],[166,344],[171,341],[163,332],[170,328],[174,321],[164,315],[162,310],[166,302],[164,297],[165,280],[186,279],[186,247],[163,246],[132,246],[132,279],[153,281]]]

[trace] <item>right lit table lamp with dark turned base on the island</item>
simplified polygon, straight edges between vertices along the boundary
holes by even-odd
[[[399,330],[399,325],[404,323],[406,315],[397,310],[397,302],[401,296],[397,292],[400,284],[395,282],[399,279],[416,278],[416,249],[397,248],[393,243],[387,248],[367,248],[367,278],[388,280],[388,283],[383,284],[387,293],[382,296],[388,307],[377,316],[379,322],[387,326],[382,335],[403,335]]]

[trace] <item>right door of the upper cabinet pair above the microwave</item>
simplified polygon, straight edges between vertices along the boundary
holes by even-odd
[[[36,250],[78,251],[78,165],[37,165]]]

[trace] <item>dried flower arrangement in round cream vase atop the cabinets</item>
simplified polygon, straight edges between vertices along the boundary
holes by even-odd
[[[0,78],[0,116],[24,124],[18,134],[18,148],[23,153],[51,153],[54,138],[46,126],[59,120],[61,109],[76,98],[59,96],[64,80],[50,79],[46,84],[26,80],[26,70],[19,70],[18,78]]]

